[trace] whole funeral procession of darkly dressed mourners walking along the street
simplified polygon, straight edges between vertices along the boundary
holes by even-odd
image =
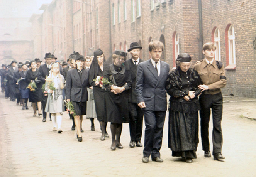
[[[176,69],[170,72],[169,65],[161,60],[163,43],[149,43],[151,58],[142,60],[142,46],[132,42],[127,52],[115,50],[108,59],[101,49],[93,56],[84,57],[78,52],[70,54],[67,62],[59,62],[51,54],[40,59],[17,64],[2,65],[1,89],[5,98],[22,105],[28,110],[28,101],[34,110],[32,116],[42,116],[46,122],[47,113],[53,123],[53,131],[62,133],[61,121],[64,111],[69,112],[76,130],[78,142],[82,142],[83,116],[100,123],[100,140],[110,137],[107,123],[110,123],[111,150],[124,148],[120,142],[122,124],[129,123],[129,147],[143,147],[141,143],[143,117],[145,122],[144,150],[142,162],[163,162],[160,155],[163,126],[169,100],[168,147],[173,157],[182,157],[192,163],[197,158],[199,143],[199,114],[202,147],[205,157],[211,157],[209,142],[210,110],[213,120],[214,160],[223,160],[222,155],[222,94],[220,88],[226,84],[222,62],[214,60],[216,47],[208,42],[203,45],[205,58],[191,66],[189,54],[179,54]],[[16,67],[17,66],[17,67]],[[198,99],[199,97],[199,99]]]

